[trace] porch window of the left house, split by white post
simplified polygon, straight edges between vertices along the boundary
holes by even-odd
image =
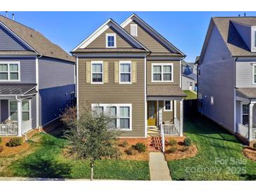
[[[11,121],[18,121],[18,102],[10,102],[10,119]],[[30,107],[29,101],[22,101],[22,121],[29,121]]]

